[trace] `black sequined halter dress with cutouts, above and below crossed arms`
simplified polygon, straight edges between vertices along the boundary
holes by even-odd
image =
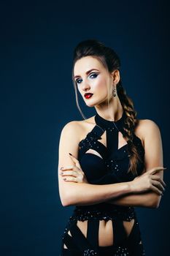
[[[79,143],[78,159],[82,170],[90,184],[114,184],[132,181],[135,176],[127,173],[129,165],[128,144],[118,149],[118,132],[123,134],[125,127],[125,112],[117,121],[109,121],[96,113],[96,126],[88,132],[85,139]],[[99,140],[106,130],[107,146]],[[137,146],[139,162],[137,173],[139,176],[144,168],[144,148],[142,141],[134,134],[133,143]],[[88,152],[97,151],[99,155]],[[114,241],[112,246],[98,245],[99,221],[112,220]],[[123,221],[134,219],[131,233],[127,236]],[[88,220],[87,238],[82,234],[77,221]],[[72,236],[68,234],[71,233]],[[66,248],[63,245],[66,245]],[[75,206],[72,216],[66,225],[62,236],[61,256],[105,255],[105,256],[142,256],[145,255],[142,244],[139,222],[134,207],[116,206],[110,203],[98,203],[90,206]]]

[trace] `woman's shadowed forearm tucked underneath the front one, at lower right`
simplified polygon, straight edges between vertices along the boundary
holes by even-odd
[[[107,203],[112,203],[117,206],[158,208],[160,200],[161,195],[157,195],[155,192],[144,192],[142,194],[123,195],[114,200],[108,200]]]

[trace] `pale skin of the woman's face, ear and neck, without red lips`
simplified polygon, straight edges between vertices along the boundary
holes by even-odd
[[[94,72],[98,74],[96,78],[93,75],[86,75],[85,72],[90,69],[93,70],[90,74]],[[120,73],[116,69],[112,74],[107,72],[107,69],[98,61],[91,56],[86,56],[78,60],[74,65],[74,76],[77,80],[77,89],[82,95],[82,99],[88,107],[94,107],[96,112],[106,118],[107,120],[115,121],[122,116],[123,108],[118,97],[112,97],[113,86],[117,86],[120,80]],[[77,78],[77,75],[79,77]],[[107,105],[107,85],[109,85],[109,105]],[[90,99],[85,99],[84,94],[86,92],[93,93],[93,97]],[[90,120],[89,120],[90,121]]]

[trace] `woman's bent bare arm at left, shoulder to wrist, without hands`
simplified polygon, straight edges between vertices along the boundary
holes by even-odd
[[[63,127],[58,151],[58,187],[63,206],[90,205],[111,200],[120,195],[131,193],[131,183],[94,185],[75,182],[65,182],[60,176],[60,167],[72,165],[69,152],[78,157],[78,143],[80,141],[80,124],[71,121]]]

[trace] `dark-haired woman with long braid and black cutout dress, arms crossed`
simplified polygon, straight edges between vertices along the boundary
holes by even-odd
[[[145,255],[134,206],[158,208],[166,187],[157,124],[136,118],[112,48],[88,39],[74,50],[72,79],[96,115],[61,132],[58,182],[63,206],[76,206],[61,255]]]

